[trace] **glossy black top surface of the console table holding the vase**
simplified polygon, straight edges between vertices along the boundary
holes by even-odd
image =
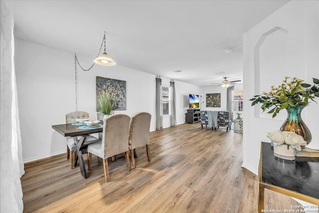
[[[296,157],[295,161],[274,156],[270,143],[262,142],[263,183],[319,199],[319,158]]]

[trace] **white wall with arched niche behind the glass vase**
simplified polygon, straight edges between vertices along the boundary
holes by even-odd
[[[319,1],[289,1],[243,36],[244,135],[243,167],[257,174],[261,142],[269,142],[267,132],[279,130],[286,111],[271,119],[251,107],[253,95],[269,91],[285,76],[319,78]],[[318,100],[319,101],[319,100]],[[318,102],[317,101],[317,102]],[[319,105],[307,106],[302,118],[312,132],[308,147],[319,149]]]

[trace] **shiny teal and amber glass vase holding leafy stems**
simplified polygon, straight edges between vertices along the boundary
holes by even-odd
[[[311,132],[301,118],[301,111],[306,105],[296,105],[296,107],[288,106],[288,117],[285,123],[281,126],[280,131],[294,132],[297,135],[301,135],[307,144],[310,144],[312,140]],[[302,147],[305,148],[305,147]]]

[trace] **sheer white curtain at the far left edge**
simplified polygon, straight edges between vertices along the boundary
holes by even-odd
[[[24,174],[14,71],[12,1],[0,1],[0,213],[22,213]]]

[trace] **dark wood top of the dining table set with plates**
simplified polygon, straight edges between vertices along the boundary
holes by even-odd
[[[100,124],[103,125],[103,122]],[[81,126],[73,126],[72,124],[59,124],[59,125],[52,125],[52,128],[63,135],[64,137],[70,136],[81,136],[81,135],[89,135],[93,133],[103,132],[103,127],[96,128],[96,129],[79,129]]]

